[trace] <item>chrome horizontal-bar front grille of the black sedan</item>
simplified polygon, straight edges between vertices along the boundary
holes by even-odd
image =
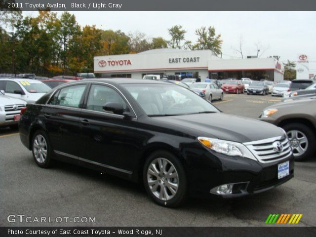
[[[278,151],[276,142],[279,141],[283,149]],[[244,145],[262,163],[274,162],[289,157],[292,150],[286,136],[274,137],[260,141],[247,142]]]

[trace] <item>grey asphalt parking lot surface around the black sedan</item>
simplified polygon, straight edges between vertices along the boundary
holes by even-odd
[[[258,118],[279,97],[225,94],[226,113]],[[260,127],[258,127],[260,132]],[[294,178],[265,193],[234,200],[192,199],[158,206],[141,185],[58,162],[38,167],[17,130],[0,130],[0,226],[266,226],[270,213],[301,213],[298,226],[316,226],[316,158],[296,162]],[[95,222],[10,223],[7,216],[95,217]],[[291,225],[286,225],[291,226]]]

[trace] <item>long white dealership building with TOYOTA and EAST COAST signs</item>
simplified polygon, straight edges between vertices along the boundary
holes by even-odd
[[[211,50],[153,49],[137,54],[94,57],[94,73],[103,78],[142,79],[145,75],[177,78],[250,78],[283,80],[284,67],[275,58],[222,59]]]

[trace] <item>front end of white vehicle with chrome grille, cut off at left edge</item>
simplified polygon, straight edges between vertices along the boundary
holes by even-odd
[[[21,108],[25,106],[25,101],[5,96],[0,91],[0,127],[18,124]]]

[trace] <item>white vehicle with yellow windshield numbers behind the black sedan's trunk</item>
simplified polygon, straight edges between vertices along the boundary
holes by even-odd
[[[33,79],[0,79],[0,90],[9,97],[34,103],[49,91],[50,87]]]

